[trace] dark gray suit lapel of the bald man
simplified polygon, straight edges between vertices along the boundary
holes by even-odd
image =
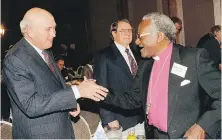
[[[53,74],[51,69],[48,67],[48,65],[44,62],[42,57],[38,54],[38,52],[23,38],[23,44],[26,47],[26,51],[30,58],[35,61],[44,72],[46,72],[46,75],[49,75],[55,80],[57,83],[59,82],[56,76]]]

